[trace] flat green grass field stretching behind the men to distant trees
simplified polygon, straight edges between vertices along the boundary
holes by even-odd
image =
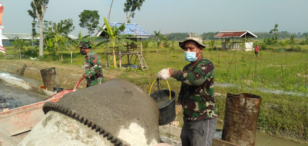
[[[297,42],[300,41],[297,40]],[[208,41],[205,43],[208,43]],[[178,47],[177,43],[175,43],[175,46],[173,52],[168,48],[159,48],[158,53],[156,53],[156,47],[144,48],[143,55],[149,70],[143,72],[155,76],[158,71],[164,68],[183,69],[188,62],[185,61],[183,50]],[[308,45],[296,46],[300,46],[301,49],[288,51],[290,46],[287,46],[286,51],[281,52],[282,46],[279,45],[267,46],[268,49],[266,50],[260,48],[258,58],[253,51],[204,50],[203,56],[214,63],[216,69],[215,82],[217,83],[233,83],[242,87],[262,87],[307,93]],[[79,49],[74,49],[72,51],[72,64],[83,64],[84,56],[80,55]],[[37,56],[35,53],[35,55],[31,55],[31,47],[27,47],[27,50],[22,50],[21,54],[28,55],[28,58]],[[103,48],[96,47],[93,50],[99,54],[102,63],[105,64]],[[19,53],[13,47],[6,47],[6,54],[14,54],[16,59],[19,57]],[[45,51],[44,54],[48,54],[48,52]],[[0,58],[4,57],[3,55],[0,56]],[[58,57],[51,58],[44,55],[44,60],[71,64],[70,50],[63,50],[62,57],[63,61],[60,61]],[[109,61],[110,58],[111,55],[108,55]],[[130,63],[140,65],[136,56],[133,56]],[[112,62],[109,62],[109,64],[112,65]],[[121,58],[121,64],[127,64],[126,55]],[[117,60],[117,65],[119,65],[119,60]]]

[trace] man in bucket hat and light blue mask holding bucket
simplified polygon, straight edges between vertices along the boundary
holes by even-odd
[[[180,135],[182,146],[211,146],[216,131],[215,68],[211,61],[203,58],[202,51],[206,46],[202,42],[199,34],[188,34],[179,45],[190,63],[183,71],[166,68],[157,75],[158,79],[166,80],[172,76],[182,82],[177,100],[184,109]]]

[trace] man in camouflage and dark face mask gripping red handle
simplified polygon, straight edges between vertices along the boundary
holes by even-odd
[[[80,54],[86,55],[84,58],[84,73],[82,79],[87,79],[87,87],[105,83],[102,63],[99,56],[91,49],[90,42],[82,40],[79,42]]]

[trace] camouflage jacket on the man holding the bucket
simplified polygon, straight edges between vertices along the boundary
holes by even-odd
[[[173,78],[181,81],[178,101],[182,102],[186,120],[203,121],[217,117],[214,101],[215,67],[208,59],[195,66],[187,64],[183,71],[174,70]]]

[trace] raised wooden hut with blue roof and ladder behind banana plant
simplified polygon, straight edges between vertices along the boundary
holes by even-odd
[[[123,23],[109,22],[110,27],[116,26],[116,27],[119,28],[122,24]],[[103,25],[102,28],[107,30],[105,24]],[[139,38],[139,40],[140,40],[140,47],[128,44],[128,45],[125,45],[125,51],[121,51],[120,49],[115,50],[115,55],[118,55],[116,60],[119,60],[120,67],[122,67],[121,58],[124,55],[127,55],[127,63],[128,64],[130,63],[130,61],[133,58],[133,56],[136,56],[136,57],[138,57],[138,59],[140,61],[140,67],[142,68],[142,70],[147,70],[148,69],[147,63],[145,62],[144,57],[142,55],[142,41],[141,41],[141,38],[149,38],[150,34],[148,34],[138,24],[131,24],[131,23],[125,23],[125,29],[123,31],[121,31],[119,35],[122,35],[122,34],[136,35],[136,38],[128,38],[128,39],[132,39],[134,41],[137,41],[137,38]],[[99,32],[95,36],[104,36],[104,37],[106,37],[106,34],[104,34],[103,31],[99,30]],[[108,48],[107,44],[106,44],[106,53],[107,53],[107,55],[112,55],[112,48]],[[108,60],[106,60],[106,66],[108,66]]]

